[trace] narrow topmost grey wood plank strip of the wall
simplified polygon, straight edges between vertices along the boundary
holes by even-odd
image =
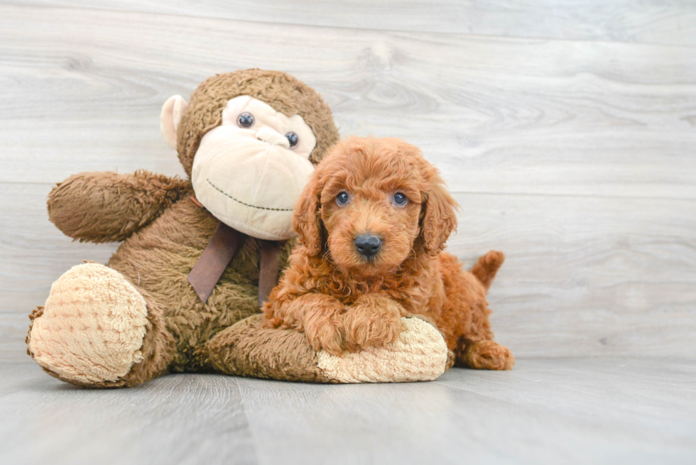
[[[688,0],[10,0],[13,4],[141,11],[380,31],[696,45]]]

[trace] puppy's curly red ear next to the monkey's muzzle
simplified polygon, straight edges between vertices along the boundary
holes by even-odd
[[[298,234],[300,243],[308,248],[312,255],[322,251],[322,218],[321,203],[322,187],[319,173],[315,171],[305,185],[293,214],[293,229]]]

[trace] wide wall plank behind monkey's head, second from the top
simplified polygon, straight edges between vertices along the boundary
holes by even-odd
[[[420,146],[458,192],[694,199],[692,57],[658,45],[4,5],[0,182],[181,173],[159,135],[161,104],[215,72],[264,67],[319,89],[343,135]]]

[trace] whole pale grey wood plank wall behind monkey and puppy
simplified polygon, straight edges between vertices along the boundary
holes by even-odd
[[[462,204],[450,251],[518,357],[696,349],[696,4],[663,0],[0,1],[0,359],[24,360],[72,243],[72,173],[182,175],[160,107],[217,72],[285,70],[342,135],[423,148]]]

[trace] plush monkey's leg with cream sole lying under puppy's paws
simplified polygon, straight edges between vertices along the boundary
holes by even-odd
[[[432,324],[403,318],[403,332],[387,347],[332,356],[315,351],[305,334],[263,327],[263,315],[224,329],[205,346],[219,372],[237,376],[315,383],[430,381],[450,368],[452,352]]]

